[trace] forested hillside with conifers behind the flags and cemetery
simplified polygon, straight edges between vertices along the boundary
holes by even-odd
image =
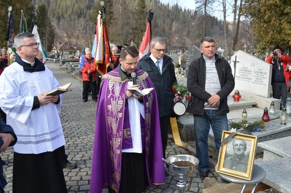
[[[193,44],[198,45],[204,35],[202,15],[194,10],[182,9],[178,4],[162,4],[159,0],[104,1],[109,39],[115,44],[133,42],[139,46],[146,28],[145,14],[148,9],[154,13],[152,37],[163,37],[168,50],[175,51],[183,47],[192,47]],[[19,0],[17,3],[1,0],[1,18],[5,18],[2,21],[7,19],[7,9],[4,7],[8,7],[8,4],[13,7],[15,34],[19,33],[20,11],[23,9],[29,27],[33,18],[39,28],[43,23],[48,26],[39,31],[48,51],[53,46],[58,49],[91,47],[96,28],[95,20],[100,9],[99,0]],[[207,35],[223,45],[222,22],[210,15],[207,16],[207,21]],[[5,28],[6,23],[2,22],[2,46],[6,43],[3,41]],[[49,40],[52,38],[53,40]]]

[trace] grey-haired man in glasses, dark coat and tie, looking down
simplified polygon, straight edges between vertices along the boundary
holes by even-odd
[[[163,156],[166,158],[167,130],[174,99],[172,85],[176,77],[173,60],[166,55],[166,41],[162,38],[152,39],[150,49],[151,53],[138,61],[137,68],[149,74],[157,91]]]

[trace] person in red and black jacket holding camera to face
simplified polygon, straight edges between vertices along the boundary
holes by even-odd
[[[266,62],[273,65],[271,81],[273,98],[280,99],[282,97],[280,109],[286,106],[287,87],[290,78],[290,71],[286,70],[289,60],[291,60],[291,57],[285,55],[279,45],[274,47],[273,52],[266,59]]]

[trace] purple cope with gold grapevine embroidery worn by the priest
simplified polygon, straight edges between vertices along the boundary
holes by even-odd
[[[140,69],[136,69],[136,72],[141,89],[154,87],[147,73]],[[102,78],[96,112],[90,193],[101,193],[108,186],[119,191],[122,147],[130,147],[130,144],[132,147],[131,137],[124,138],[130,135],[129,117],[125,118],[128,116],[128,107],[125,105],[127,81],[128,78],[121,80],[118,68]],[[166,178],[155,90],[144,96],[144,110],[145,119],[141,119],[141,126],[144,127],[142,141],[146,150],[148,182],[150,186],[164,184]]]

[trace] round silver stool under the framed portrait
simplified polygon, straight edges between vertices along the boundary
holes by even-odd
[[[215,171],[216,171],[217,165],[215,165]],[[217,175],[222,178],[223,180],[226,180],[228,182],[238,183],[238,184],[244,184],[241,193],[244,193],[246,191],[248,184],[254,184],[251,193],[255,193],[255,190],[258,186],[258,184],[266,177],[266,172],[263,168],[260,166],[253,164],[253,171],[252,171],[252,177],[251,180],[244,180],[240,178],[236,178],[233,176],[229,176],[226,174],[221,174],[216,172]]]

